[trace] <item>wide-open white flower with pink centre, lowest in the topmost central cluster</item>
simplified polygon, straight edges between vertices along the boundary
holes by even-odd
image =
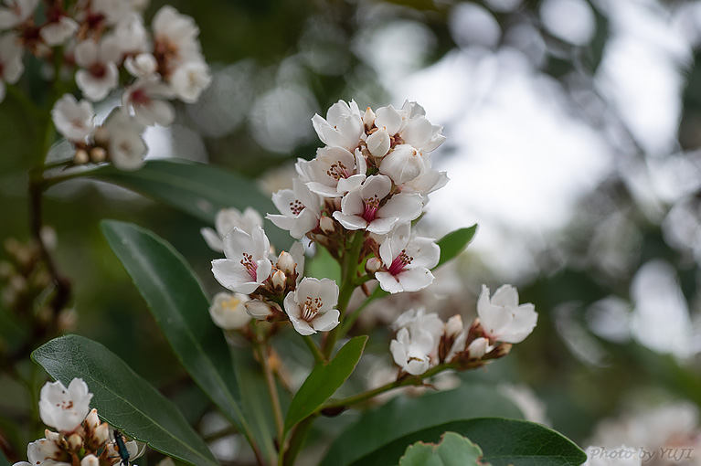
[[[341,211],[335,211],[334,218],[347,229],[366,229],[385,235],[399,223],[419,217],[423,208],[421,196],[404,193],[389,196],[391,187],[388,176],[368,176],[360,188],[344,196]]]

